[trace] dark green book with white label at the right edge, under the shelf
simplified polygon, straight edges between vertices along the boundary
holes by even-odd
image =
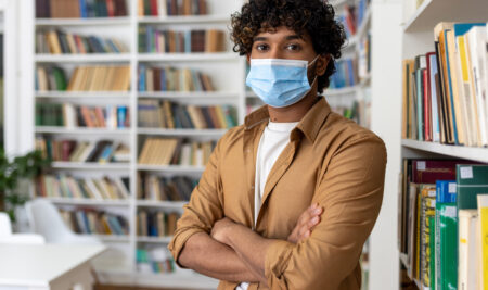
[[[476,196],[488,192],[488,165],[457,165],[458,210],[476,210]]]

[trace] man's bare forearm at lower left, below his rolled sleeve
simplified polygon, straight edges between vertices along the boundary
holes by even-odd
[[[195,234],[188,239],[178,262],[184,267],[220,280],[234,282],[259,280],[230,247],[216,241],[205,232]]]

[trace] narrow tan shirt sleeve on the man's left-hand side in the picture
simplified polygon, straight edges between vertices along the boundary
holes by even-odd
[[[193,189],[190,201],[183,206],[183,214],[178,219],[177,229],[168,245],[177,263],[184,243],[192,235],[210,234],[215,222],[223,217],[222,184],[219,175],[219,154],[223,139],[224,137],[214,149],[198,185]]]

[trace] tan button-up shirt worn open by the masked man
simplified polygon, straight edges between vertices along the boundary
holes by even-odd
[[[270,289],[360,289],[359,257],[383,198],[383,141],[331,112],[321,98],[292,130],[269,173],[254,225],[256,153],[268,121],[264,106],[219,140],[178,220],[169,244],[175,260],[193,234],[209,234],[214,223],[227,216],[278,239],[265,257]],[[304,242],[287,242],[298,217],[313,202],[324,210],[320,224]],[[220,281],[218,289],[236,286]],[[252,289],[267,288],[252,283]]]

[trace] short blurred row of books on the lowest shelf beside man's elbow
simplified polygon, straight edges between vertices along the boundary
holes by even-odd
[[[139,273],[160,274],[174,273],[176,270],[175,260],[164,247],[138,248],[136,253]]]

